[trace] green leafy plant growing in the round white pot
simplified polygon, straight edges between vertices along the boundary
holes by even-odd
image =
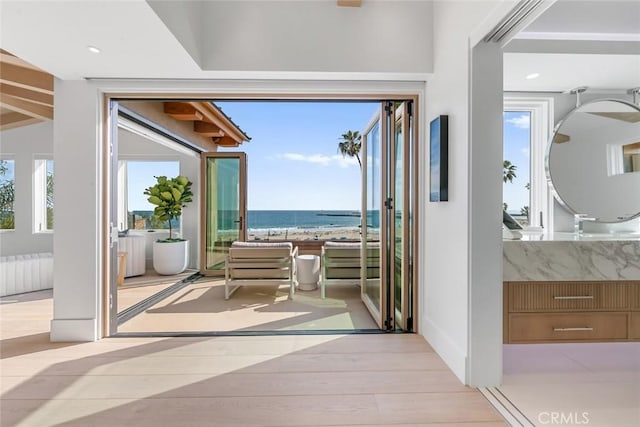
[[[156,176],[156,184],[146,188],[144,194],[149,196],[149,203],[156,205],[153,215],[161,221],[169,222],[169,238],[164,242],[178,242],[184,239],[173,239],[173,230],[171,221],[180,218],[182,208],[187,203],[193,201],[193,192],[191,185],[193,183],[185,176],[179,175],[175,178],[167,178],[166,176]]]

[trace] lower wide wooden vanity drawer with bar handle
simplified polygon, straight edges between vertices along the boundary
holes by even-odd
[[[509,342],[627,339],[628,313],[510,314]]]

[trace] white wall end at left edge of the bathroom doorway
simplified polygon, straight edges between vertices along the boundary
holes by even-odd
[[[472,50],[469,170],[469,350],[466,383],[502,379],[502,49]]]

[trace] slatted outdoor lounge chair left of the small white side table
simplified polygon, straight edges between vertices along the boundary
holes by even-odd
[[[225,260],[224,299],[240,286],[267,284],[288,284],[293,298],[297,253],[290,242],[233,242]]]

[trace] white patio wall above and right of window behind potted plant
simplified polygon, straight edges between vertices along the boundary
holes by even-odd
[[[178,153],[141,135],[119,129],[118,159],[180,162],[180,174],[193,182],[193,202],[182,211],[182,237],[190,241],[189,268],[199,268],[200,157]]]

